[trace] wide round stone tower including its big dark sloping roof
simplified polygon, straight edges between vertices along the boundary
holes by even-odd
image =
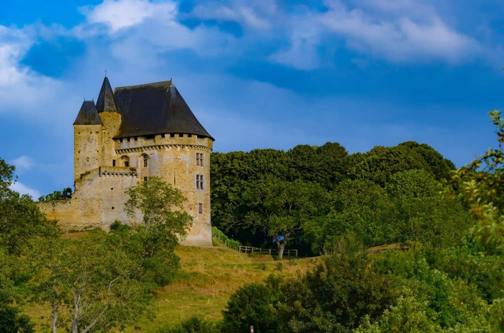
[[[196,119],[172,81],[114,90],[122,114],[114,137],[115,156],[138,173],[158,176],[187,198],[193,217],[182,244],[211,246],[210,153],[214,139]],[[101,114],[100,114],[101,116]]]

